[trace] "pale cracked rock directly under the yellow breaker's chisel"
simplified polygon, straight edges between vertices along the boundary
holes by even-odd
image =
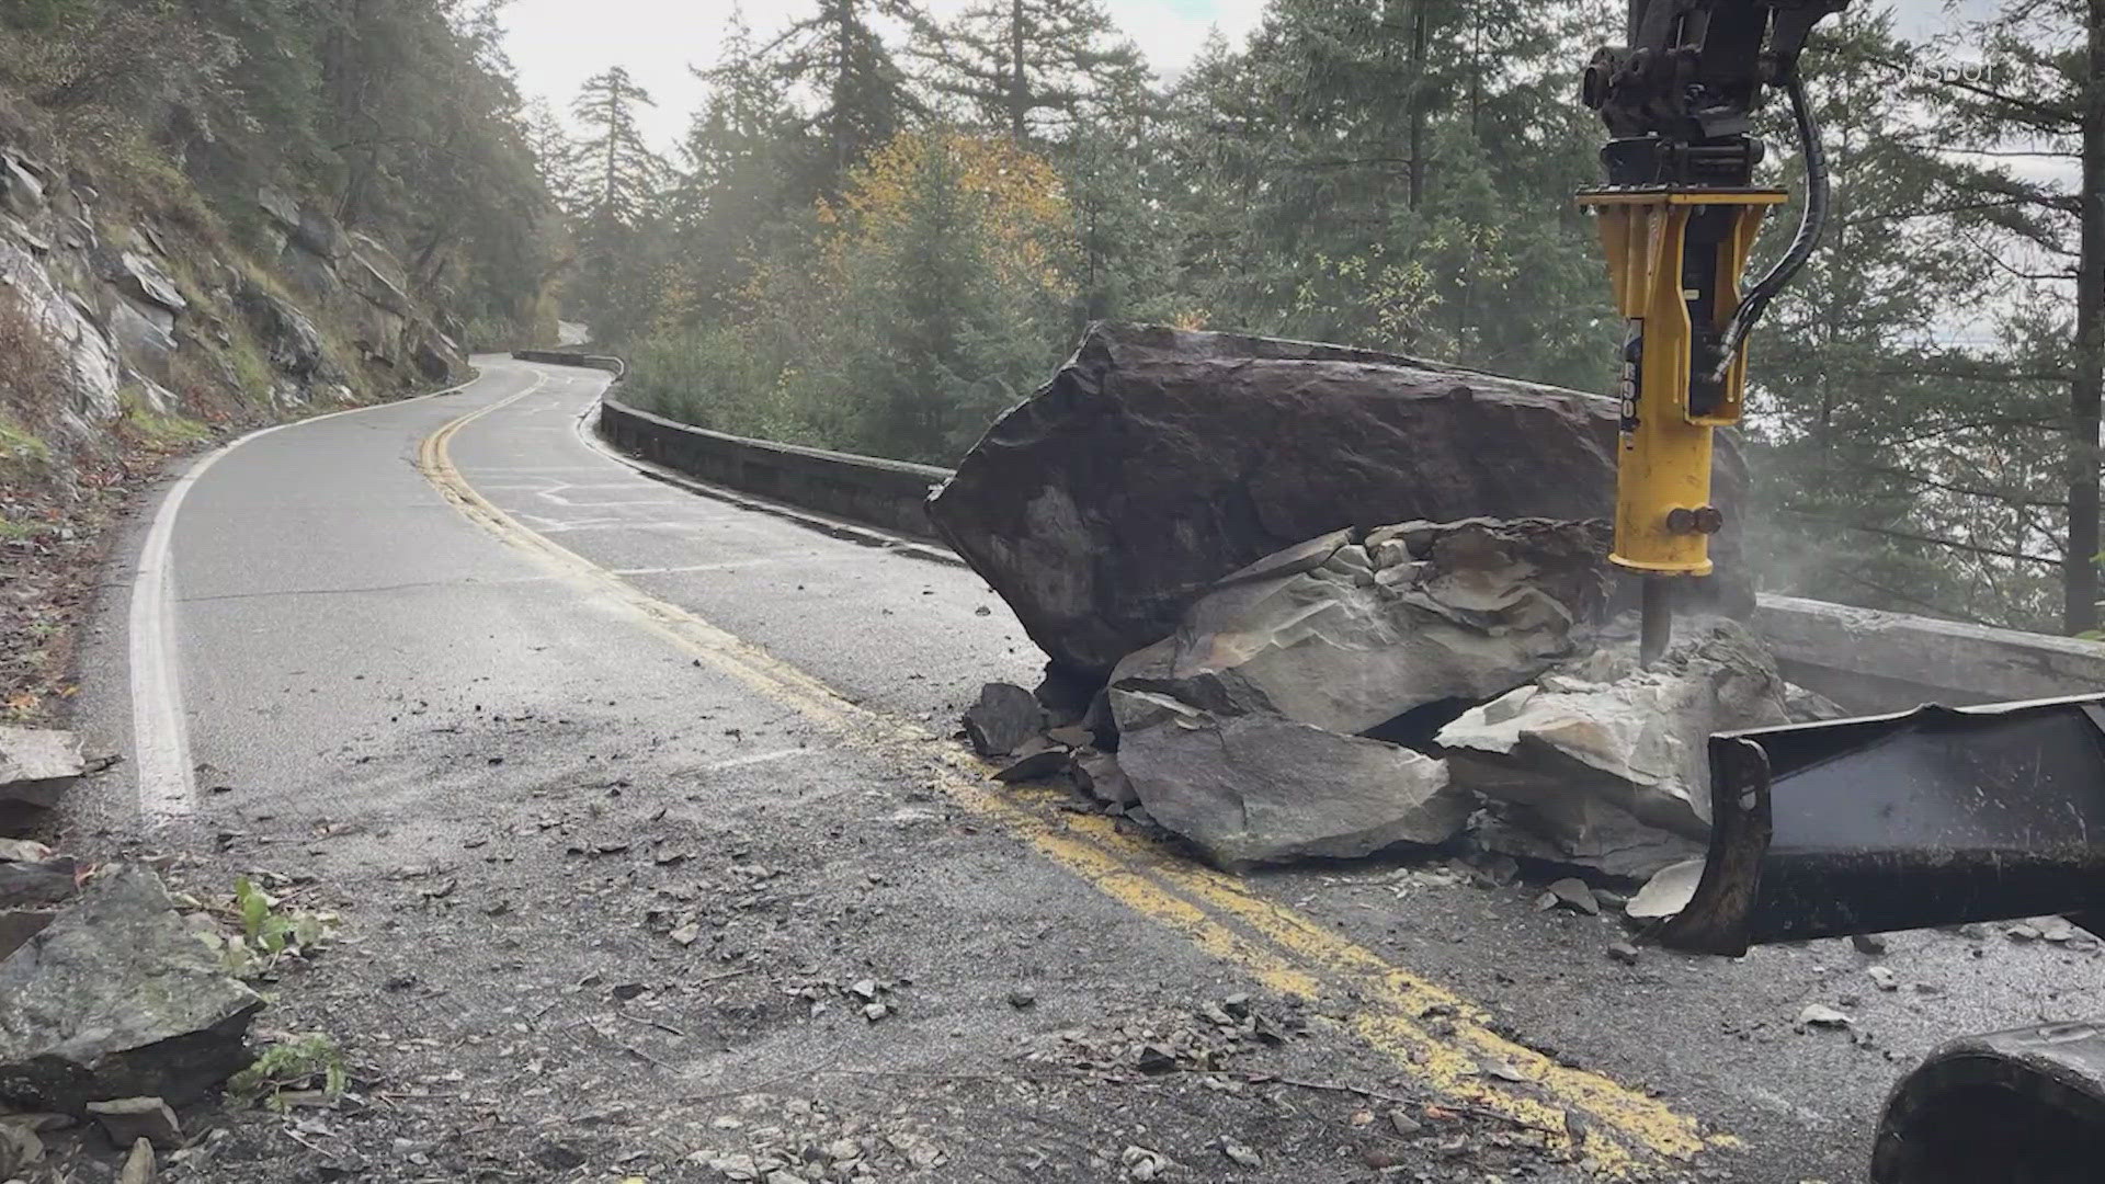
[[[1707,737],[1787,723],[1785,683],[1737,621],[1678,630],[1652,670],[1633,643],[1602,647],[1440,729],[1455,784],[1518,824],[1482,843],[1631,879],[1703,851]]]

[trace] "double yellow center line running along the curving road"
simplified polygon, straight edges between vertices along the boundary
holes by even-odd
[[[1438,1100],[1545,1131],[1551,1146],[1570,1148],[1598,1178],[1659,1178],[1705,1148],[1737,1146],[1730,1136],[1705,1133],[1695,1119],[1642,1089],[1558,1064],[1501,1037],[1486,1009],[1265,900],[1234,876],[1168,855],[1120,832],[1107,817],[1061,811],[1052,794],[994,790],[991,767],[954,742],[853,704],[804,670],[522,527],[461,478],[448,445],[467,423],[535,390],[539,383],[434,432],[419,449],[419,468],[469,520],[579,590],[615,603],[680,651],[794,708],[842,744],[918,773],[962,809],[1265,988],[1307,1003],[1349,1001],[1343,1028],[1402,1064]],[[1488,1079],[1480,1060],[1495,1060],[1501,1077],[1522,1081]]]

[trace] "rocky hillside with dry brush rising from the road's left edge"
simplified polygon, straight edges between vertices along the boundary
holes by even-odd
[[[99,527],[215,434],[465,377],[396,251],[0,86],[0,723],[63,716]]]

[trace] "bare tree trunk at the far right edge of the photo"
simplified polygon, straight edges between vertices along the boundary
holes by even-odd
[[[2099,396],[2105,392],[2105,0],[2088,0],[2082,230],[2076,255],[2076,377],[2069,381],[2069,550],[2063,626],[2099,624]]]

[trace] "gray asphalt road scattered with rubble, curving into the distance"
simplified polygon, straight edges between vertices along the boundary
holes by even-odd
[[[133,539],[166,603],[112,596],[88,651],[91,739],[139,761],[78,826],[194,851],[204,881],[274,868],[343,912],[347,944],[280,1009],[417,1098],[389,1138],[343,1119],[301,1140],[341,1138],[373,1178],[417,1178],[373,1148],[459,1142],[541,1163],[524,1178],[648,1155],[650,1180],[714,1180],[711,1155],[819,1112],[836,1136],[918,1123],[903,1138],[939,1161],[890,1146],[928,1180],[1130,1178],[1141,1146],[1185,1180],[1840,1182],[1934,1043],[2099,1007],[2094,944],[1998,927],[1621,965],[1619,925],[1526,885],[1398,862],[1238,885],[1052,792],[991,792],[947,733],[1038,657],[970,571],[642,476],[581,432],[606,375],[480,364],[213,459]],[[684,921],[707,935],[671,938]],[[1183,1041],[1236,992],[1305,1030],[1181,1068],[1362,1093],[1107,1085],[1074,1051]],[[1800,1030],[1808,1003],[1855,1030]],[[1398,1098],[1455,1125],[1377,1138]],[[535,1159],[587,1102],[621,1119],[577,1165]],[[267,1129],[229,1144],[248,1150],[196,1178],[305,1155]]]

